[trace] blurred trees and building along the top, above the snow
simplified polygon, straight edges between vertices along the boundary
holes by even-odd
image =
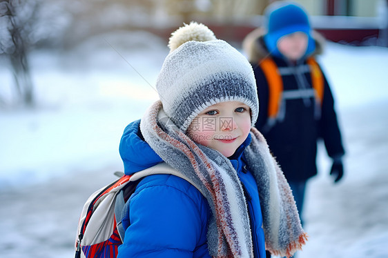
[[[36,50],[74,54],[94,41],[109,45],[106,34],[117,33],[114,46],[145,47],[135,34],[166,42],[183,23],[199,21],[237,48],[246,34],[262,24],[269,0],[15,0],[0,1],[0,57],[12,81],[2,83],[0,107],[37,104],[30,65]],[[387,0],[299,0],[311,14],[313,28],[327,40],[351,46],[388,46]],[[132,39],[128,39],[132,37]],[[121,39],[119,39],[121,38]],[[97,44],[97,46],[96,46]],[[93,52],[86,48],[81,52]],[[76,54],[77,56],[77,54]],[[16,101],[16,103],[15,103]]]

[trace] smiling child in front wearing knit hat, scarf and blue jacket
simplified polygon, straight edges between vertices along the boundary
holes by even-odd
[[[258,95],[249,62],[206,26],[173,32],[160,100],[124,130],[127,175],[165,162],[126,203],[124,257],[291,256],[306,240],[287,181],[252,128]],[[264,244],[265,243],[265,244]]]

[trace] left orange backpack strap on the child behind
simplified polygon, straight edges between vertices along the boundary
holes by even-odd
[[[266,81],[268,81],[269,100],[268,100],[268,117],[275,118],[278,115],[280,100],[282,99],[283,80],[278,72],[278,66],[275,61],[267,57],[260,61],[260,68],[264,72]]]

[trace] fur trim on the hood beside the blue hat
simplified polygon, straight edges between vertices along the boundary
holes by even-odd
[[[247,34],[244,41],[242,41],[242,49],[244,50],[249,62],[255,63],[269,55],[269,52],[264,44],[264,35],[264,28],[256,28]],[[313,30],[312,37],[316,42],[316,50],[314,50],[311,55],[322,54],[325,40],[324,37],[316,30]]]

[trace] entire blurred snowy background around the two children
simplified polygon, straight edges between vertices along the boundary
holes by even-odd
[[[271,2],[0,0],[1,257],[72,257],[84,202],[123,170],[125,126],[158,98],[171,32],[202,22],[241,50]],[[388,1],[297,2],[327,39],[347,148],[336,185],[320,148],[298,257],[388,257]]]

